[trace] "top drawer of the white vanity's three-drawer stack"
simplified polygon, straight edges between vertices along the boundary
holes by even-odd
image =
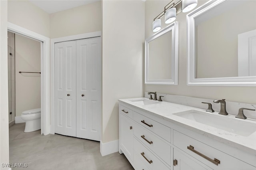
[[[152,119],[149,119],[148,117],[140,115],[137,112],[134,112],[134,121],[138,122],[140,125],[147,128],[148,130],[151,130],[168,142],[171,142],[171,128],[166,127]]]

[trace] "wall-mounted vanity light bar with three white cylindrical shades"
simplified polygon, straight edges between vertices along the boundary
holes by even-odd
[[[182,2],[182,3],[181,3]],[[164,16],[165,24],[170,24],[176,20],[176,15],[182,12],[189,12],[197,6],[197,0],[180,0],[176,4],[172,0],[164,7],[161,12],[153,21],[153,32],[161,30],[161,19]]]

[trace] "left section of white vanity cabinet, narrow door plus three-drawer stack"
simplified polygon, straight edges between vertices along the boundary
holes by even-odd
[[[119,105],[119,152],[136,170],[172,169],[171,128],[134,110]]]

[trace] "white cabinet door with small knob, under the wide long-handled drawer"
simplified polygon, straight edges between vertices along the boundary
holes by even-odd
[[[177,160],[176,165],[173,166],[173,170],[212,170],[211,168],[201,166],[193,160],[194,158],[188,157],[176,149],[174,149],[173,158]]]

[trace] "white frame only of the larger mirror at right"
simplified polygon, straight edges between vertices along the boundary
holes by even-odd
[[[256,76],[219,77],[196,79],[195,69],[195,23],[194,19],[226,0],[210,0],[187,15],[188,73],[187,85],[203,86],[256,86]],[[221,69],[221,68],[217,68]]]

